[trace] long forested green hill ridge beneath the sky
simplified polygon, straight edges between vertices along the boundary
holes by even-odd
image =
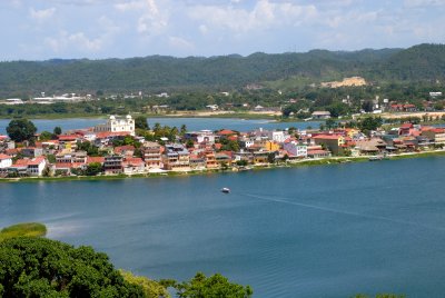
[[[12,61],[0,63],[0,97],[55,92],[224,90],[293,77],[319,82],[362,76],[372,81],[435,81],[445,78],[445,46],[353,52],[210,58]]]

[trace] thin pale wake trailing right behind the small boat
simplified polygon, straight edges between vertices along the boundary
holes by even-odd
[[[326,207],[316,206],[316,205],[309,205],[309,203],[304,203],[304,202],[298,202],[298,201],[290,201],[290,200],[287,200],[287,198],[264,197],[264,196],[258,196],[258,195],[254,195],[254,193],[239,193],[239,195],[244,196],[244,197],[259,199],[263,201],[293,205],[296,207],[303,207],[303,208],[308,208],[308,209],[324,211],[324,212],[362,217],[362,218],[374,219],[374,220],[383,220],[383,221],[388,221],[388,222],[398,224],[398,225],[424,228],[424,229],[428,229],[428,230],[445,231],[445,227],[434,227],[434,226],[422,225],[418,222],[413,222],[413,221],[407,221],[407,220],[393,219],[393,218],[388,218],[388,217],[366,215],[366,213],[346,211],[346,210],[334,209],[334,208],[326,208]]]

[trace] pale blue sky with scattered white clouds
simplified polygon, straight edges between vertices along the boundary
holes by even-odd
[[[445,43],[445,0],[0,0],[0,60]]]

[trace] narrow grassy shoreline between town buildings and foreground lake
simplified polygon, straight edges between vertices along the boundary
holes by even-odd
[[[383,160],[399,160],[399,159],[414,159],[414,158],[426,158],[426,157],[444,157],[445,149],[435,151],[423,151],[423,152],[409,152],[399,153],[385,157]],[[365,162],[370,161],[369,157],[330,157],[319,159],[304,159],[295,162],[286,162],[279,165],[258,165],[251,166],[248,171],[258,170],[271,170],[283,168],[299,168],[299,167],[315,167],[315,166],[332,166],[342,165],[349,162]],[[382,161],[383,161],[382,160]],[[373,161],[374,162],[374,161]],[[22,178],[0,178],[0,183],[18,183],[18,182],[60,182],[60,181],[97,181],[97,180],[123,180],[135,178],[167,178],[167,177],[190,177],[190,176],[202,176],[202,175],[219,175],[219,173],[239,173],[239,170],[229,168],[227,170],[221,169],[204,169],[204,170],[190,170],[190,171],[166,171],[166,172],[147,172],[147,173],[135,173],[135,175],[107,175],[107,176],[66,176],[66,177],[22,177]],[[243,171],[241,171],[243,172]]]

